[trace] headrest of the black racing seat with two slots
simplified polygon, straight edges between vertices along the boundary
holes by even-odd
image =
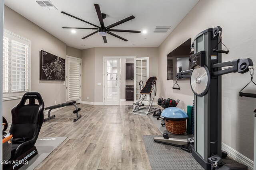
[[[28,103],[27,103],[28,100]],[[44,105],[44,101],[42,99],[42,96],[38,92],[26,92],[22,99],[20,100],[20,103],[18,106],[40,106]]]

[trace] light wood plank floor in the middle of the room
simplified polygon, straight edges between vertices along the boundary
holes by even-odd
[[[36,170],[150,170],[142,135],[161,135],[150,117],[129,114],[132,106],[78,104],[82,117],[73,122],[74,107],[53,112],[40,137],[68,137]],[[150,115],[151,116],[151,115]]]

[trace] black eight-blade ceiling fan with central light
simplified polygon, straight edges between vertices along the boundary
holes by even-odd
[[[94,7],[95,7],[95,9],[96,9],[96,12],[97,12],[97,15],[98,15],[98,18],[99,18],[99,21],[100,21],[100,27],[97,26],[97,25],[94,25],[94,24],[92,24],[92,23],[90,23],[90,22],[88,22],[88,21],[82,20],[82,19],[80,19],[80,18],[77,18],[77,17],[75,17],[75,16],[72,16],[72,15],[70,15],[70,14],[68,14],[68,13],[62,11],[62,12],[61,12],[62,14],[66,14],[67,16],[70,16],[70,17],[72,17],[72,18],[75,18],[75,19],[77,19],[77,20],[83,21],[83,22],[85,22],[85,23],[88,23],[88,24],[90,24],[90,25],[96,27],[96,28],[62,27],[62,28],[65,28],[65,29],[97,29],[97,31],[94,31],[93,33],[90,33],[89,35],[86,35],[86,36],[83,37],[82,39],[86,39],[87,37],[90,37],[91,35],[94,35],[95,33],[98,32],[100,35],[102,35],[102,38],[103,38],[103,40],[104,40],[104,43],[108,43],[108,42],[107,42],[107,39],[106,39],[106,34],[107,34],[107,33],[110,34],[110,35],[113,35],[114,37],[117,37],[117,38],[119,38],[119,39],[122,39],[122,40],[124,40],[124,41],[128,41],[127,39],[125,39],[125,38],[123,38],[123,37],[120,37],[119,35],[116,35],[116,34],[112,33],[112,31],[113,31],[113,32],[126,32],[126,33],[140,33],[140,31],[134,31],[134,30],[111,29],[112,27],[115,27],[115,26],[120,25],[120,24],[122,24],[122,23],[124,23],[124,22],[127,22],[127,21],[130,21],[130,20],[134,19],[134,18],[135,18],[134,16],[130,16],[130,17],[128,17],[128,18],[125,18],[125,19],[123,19],[123,20],[120,20],[120,21],[118,21],[118,22],[116,22],[116,23],[113,23],[113,24],[108,25],[108,26],[105,27],[104,22],[103,22],[103,19],[106,18],[106,14],[101,13],[101,11],[100,11],[100,5],[99,5],[99,4],[94,4]]]

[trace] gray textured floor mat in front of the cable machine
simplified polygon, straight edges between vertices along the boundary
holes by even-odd
[[[156,143],[154,137],[155,135],[143,136],[152,170],[203,170],[191,153],[179,147]]]

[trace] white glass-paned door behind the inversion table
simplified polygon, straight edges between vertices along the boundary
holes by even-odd
[[[149,58],[143,57],[143,58],[135,58],[134,59],[134,102],[138,101],[140,97],[140,81],[143,82],[144,86],[146,84],[146,81],[149,78]],[[147,99],[149,100],[149,95],[147,95]],[[147,101],[142,102],[144,105],[148,105],[149,103]]]

